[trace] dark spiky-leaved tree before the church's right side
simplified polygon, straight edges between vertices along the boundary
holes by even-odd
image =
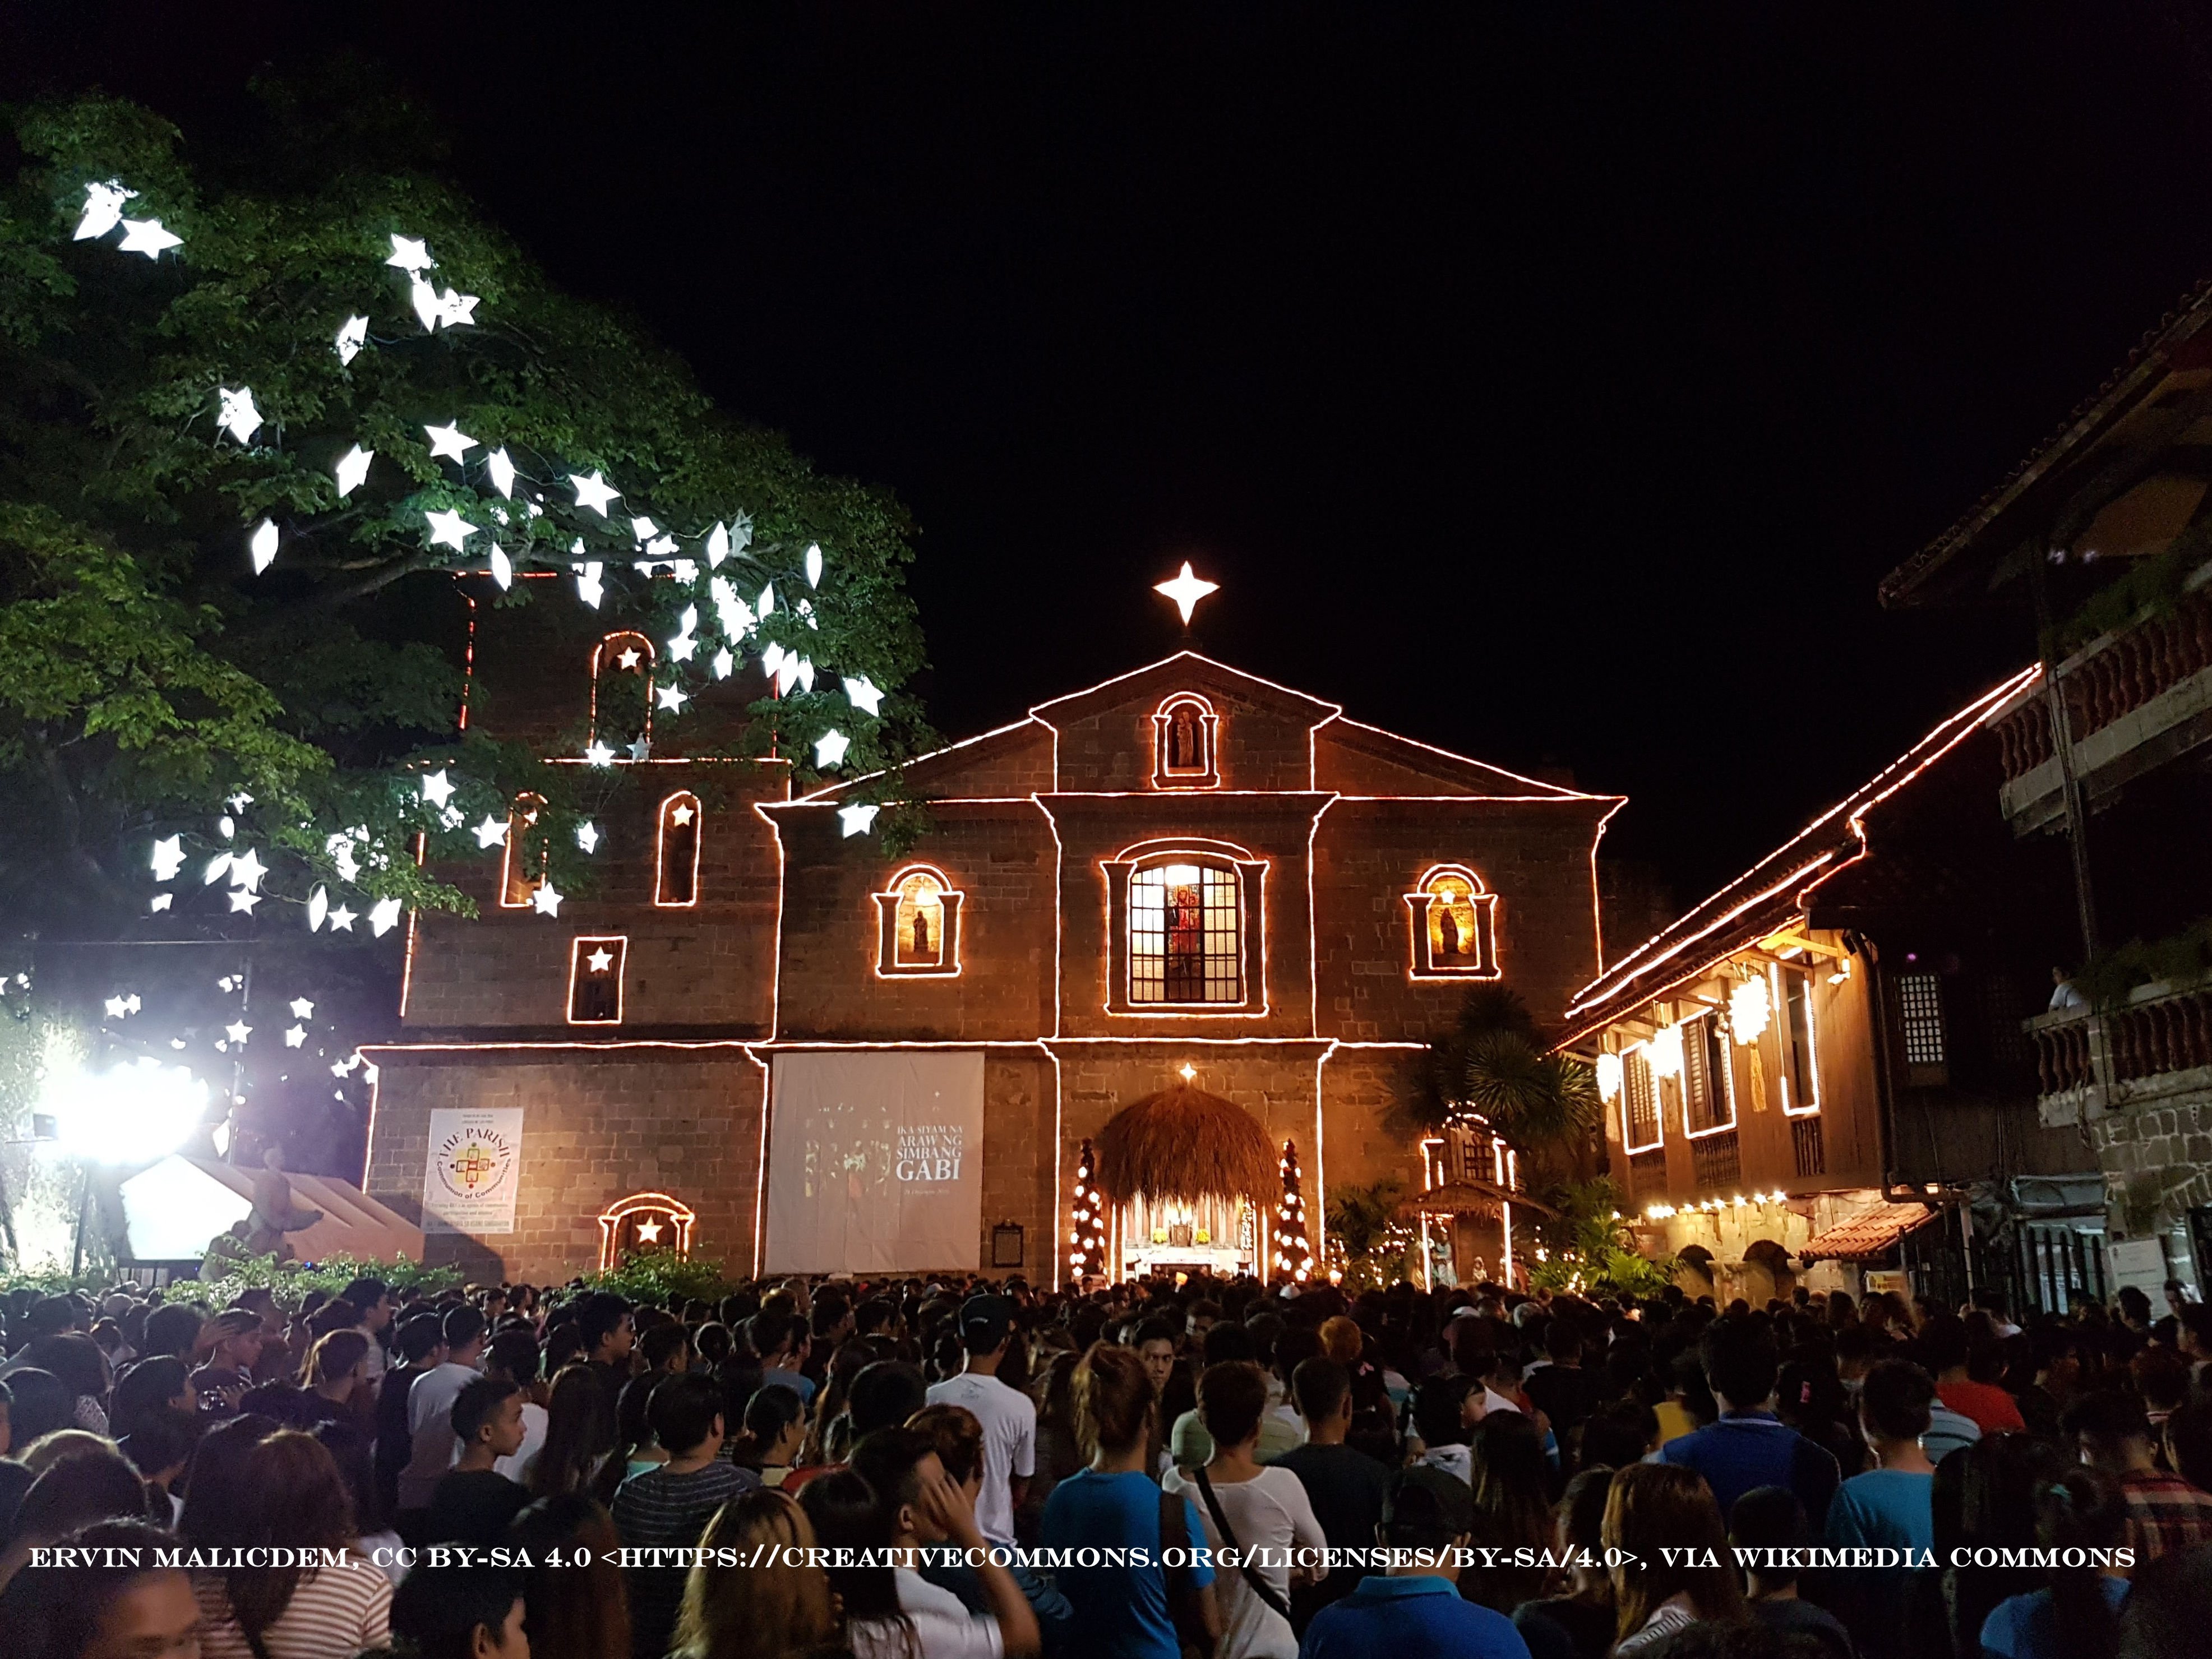
[[[1595,1172],[1597,1077],[1579,1060],[1544,1053],[1533,1015],[1504,987],[1469,991],[1458,1024],[1427,1046],[1385,1108],[1385,1126],[1400,1139],[1418,1139],[1469,1115],[1480,1115],[1533,1164],[1531,1186]]]

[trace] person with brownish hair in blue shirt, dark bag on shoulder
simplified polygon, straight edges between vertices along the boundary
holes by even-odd
[[[1091,1467],[1053,1486],[1037,1544],[1048,1551],[1130,1551],[1121,1566],[1073,1566],[1053,1575],[1071,1619],[1062,1659],[1181,1659],[1177,1610],[1190,1630],[1221,1635],[1210,1566],[1168,1566],[1161,1504],[1183,1511],[1181,1548],[1206,1548],[1199,1511],[1168,1500],[1148,1469],[1159,1398],[1133,1347],[1093,1343],[1075,1365],[1075,1431],[1093,1447]],[[1144,1551],[1141,1557],[1135,1551]],[[1141,1559],[1141,1564],[1139,1564]]]

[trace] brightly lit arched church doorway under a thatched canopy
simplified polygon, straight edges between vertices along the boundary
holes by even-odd
[[[1190,1084],[1124,1106],[1097,1133],[1115,1279],[1263,1272],[1274,1141],[1250,1113]]]

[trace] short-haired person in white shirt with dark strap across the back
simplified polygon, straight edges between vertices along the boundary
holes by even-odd
[[[1161,1489],[1190,1498],[1214,1551],[1248,1559],[1265,1551],[1263,1566],[1214,1559],[1221,1599],[1221,1641],[1214,1659],[1298,1659],[1290,1628],[1290,1590],[1321,1579],[1327,1533],[1314,1517],[1305,1482],[1290,1469],[1261,1464],[1259,1420],[1267,1409],[1265,1374],[1250,1363],[1208,1365],[1199,1378],[1199,1420],[1214,1455],[1201,1469],[1177,1469]],[[1292,1564],[1290,1551],[1314,1551]]]

